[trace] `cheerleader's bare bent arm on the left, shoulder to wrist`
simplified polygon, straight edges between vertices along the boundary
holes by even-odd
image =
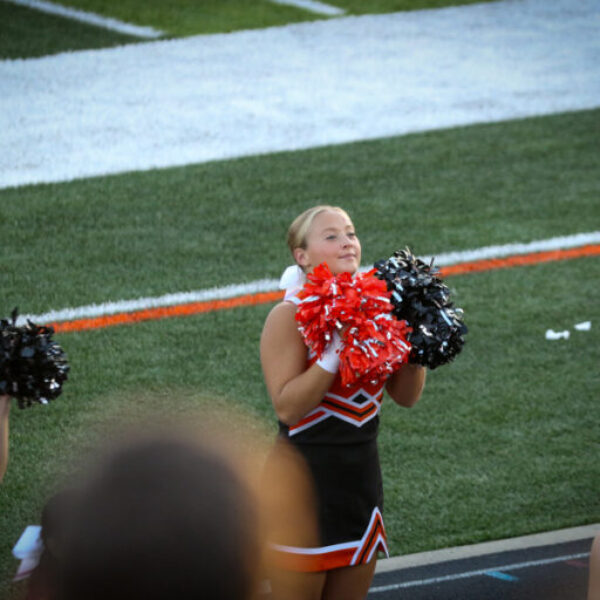
[[[275,306],[260,339],[267,390],[277,417],[286,425],[294,425],[316,408],[336,375],[316,363],[306,368],[306,346],[295,315],[290,302]]]

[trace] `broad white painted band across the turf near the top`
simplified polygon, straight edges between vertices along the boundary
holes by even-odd
[[[599,18],[502,0],[1,60],[0,189],[598,108]]]

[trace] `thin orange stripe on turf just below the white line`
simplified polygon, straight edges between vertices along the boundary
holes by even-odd
[[[448,277],[449,275],[461,275],[465,273],[476,273],[480,271],[490,271],[493,269],[506,269],[509,267],[534,265],[543,262],[556,260],[567,260],[580,258],[583,256],[600,255],[600,244],[591,244],[579,248],[568,248],[565,250],[550,250],[547,252],[534,252],[532,254],[522,254],[518,256],[509,256],[506,258],[490,258],[485,260],[476,260],[458,265],[450,265],[440,268],[440,275]],[[186,315],[196,315],[227,308],[236,308],[239,306],[253,306],[256,304],[266,304],[268,302],[277,302],[283,298],[283,292],[260,292],[257,294],[246,294],[236,298],[226,300],[212,300],[208,302],[191,302],[189,304],[176,304],[173,306],[163,306],[159,308],[148,308],[130,313],[117,313],[103,317],[91,319],[76,319],[73,321],[62,321],[59,323],[49,323],[57,333],[68,331],[83,331],[87,329],[101,329],[114,325],[124,325],[126,323],[139,323],[140,321],[151,321],[164,319],[166,317],[182,317]]]

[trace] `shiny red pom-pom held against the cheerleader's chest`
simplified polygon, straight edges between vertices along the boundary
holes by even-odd
[[[327,264],[315,267],[299,294],[296,313],[307,346],[320,358],[334,331],[344,342],[340,375],[344,385],[385,379],[407,362],[406,321],[391,316],[391,293],[375,270],[333,275]]]

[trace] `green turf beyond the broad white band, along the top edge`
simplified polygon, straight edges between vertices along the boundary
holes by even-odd
[[[476,0],[341,0],[348,15],[473,4]],[[479,1],[479,0],[477,0]],[[227,33],[328,18],[268,0],[66,0],[64,6],[163,31],[165,38]],[[27,58],[142,40],[0,0],[0,59]],[[35,35],[31,35],[35,32]]]

